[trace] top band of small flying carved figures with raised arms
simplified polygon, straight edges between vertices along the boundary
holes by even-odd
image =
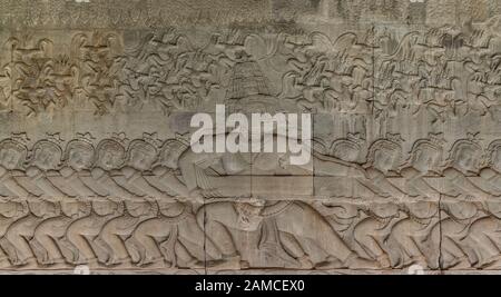
[[[0,75],[3,110],[28,115],[69,103],[97,113],[197,110],[222,98],[235,109],[371,115],[402,110],[443,122],[469,112],[499,119],[501,17],[400,36],[390,28],[310,34],[213,33],[195,46],[181,30],[81,32],[61,52],[48,38],[13,37]]]

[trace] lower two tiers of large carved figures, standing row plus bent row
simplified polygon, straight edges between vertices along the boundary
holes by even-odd
[[[226,190],[250,172],[215,172],[247,159],[200,167],[183,138],[13,135],[0,141],[2,269],[498,268],[501,141],[470,136],[444,154],[431,135],[405,159],[397,139],[374,141],[364,165],[360,139],[320,147],[321,194],[284,200]],[[269,154],[255,155],[258,167]]]

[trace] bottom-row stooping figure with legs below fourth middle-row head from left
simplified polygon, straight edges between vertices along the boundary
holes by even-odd
[[[105,222],[99,236],[94,240],[105,250],[106,266],[130,267],[131,259],[122,238],[130,237],[136,227],[144,220],[158,215],[158,205],[154,201],[124,201],[125,211],[121,216]]]

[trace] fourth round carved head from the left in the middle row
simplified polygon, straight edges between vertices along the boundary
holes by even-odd
[[[99,142],[96,155],[96,166],[105,170],[120,168],[126,160],[124,146],[112,139],[105,139]]]

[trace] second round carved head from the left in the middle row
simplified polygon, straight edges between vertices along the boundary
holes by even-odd
[[[31,156],[31,165],[41,170],[57,169],[62,157],[61,148],[52,141],[41,140],[35,143]]]

